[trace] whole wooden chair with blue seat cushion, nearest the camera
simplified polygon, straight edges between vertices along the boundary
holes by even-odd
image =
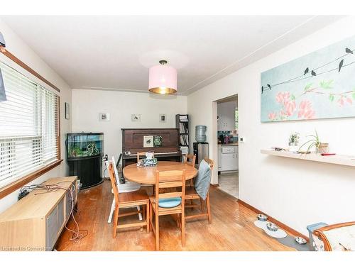
[[[155,249],[159,250],[159,216],[177,214],[181,228],[181,243],[185,245],[185,170],[155,172],[155,196],[150,197],[150,223],[155,235]],[[160,192],[160,189],[180,188],[176,192]],[[180,189],[179,189],[180,190]],[[154,213],[154,215],[153,215]],[[153,216],[155,223],[153,224]]]

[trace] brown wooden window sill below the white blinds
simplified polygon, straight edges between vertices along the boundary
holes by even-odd
[[[15,182],[12,182],[10,184],[7,184],[5,187],[1,187],[0,188],[0,199],[11,194],[16,189],[23,187],[28,182],[31,182],[32,180],[40,177],[42,174],[45,174],[46,172],[52,170],[53,168],[60,165],[60,163],[62,163],[62,159],[52,162],[50,165],[46,165],[45,167],[40,168],[39,170],[32,172],[31,174],[27,174],[25,177],[22,177],[21,179],[18,179]]]

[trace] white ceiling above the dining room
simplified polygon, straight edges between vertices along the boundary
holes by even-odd
[[[186,95],[340,17],[0,18],[72,88],[147,92],[148,67],[165,59],[178,68],[179,94]]]

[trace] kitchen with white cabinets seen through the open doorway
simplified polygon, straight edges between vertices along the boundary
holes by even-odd
[[[219,189],[239,198],[238,95],[217,101]]]

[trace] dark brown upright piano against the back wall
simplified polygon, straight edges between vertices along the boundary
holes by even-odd
[[[122,166],[137,163],[137,153],[153,152],[158,161],[181,162],[178,128],[122,128]],[[160,147],[143,147],[144,136],[158,135]]]

